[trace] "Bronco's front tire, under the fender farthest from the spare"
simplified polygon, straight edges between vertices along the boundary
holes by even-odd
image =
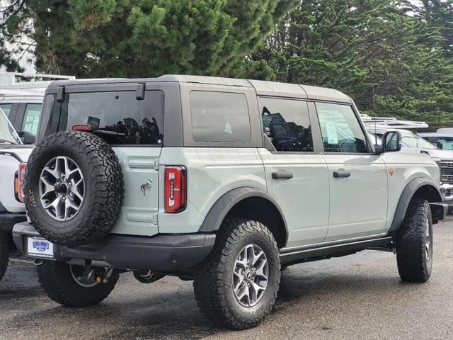
[[[427,261],[425,251],[426,228],[430,235],[430,251]],[[427,200],[413,198],[408,206],[403,224],[396,234],[396,262],[401,280],[426,282],[432,268],[432,220]]]

